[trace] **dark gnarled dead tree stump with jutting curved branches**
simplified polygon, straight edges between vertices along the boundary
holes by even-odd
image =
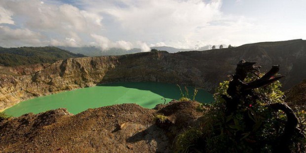
[[[232,80],[229,81],[229,87],[227,89],[227,93],[230,97],[222,95],[222,98],[226,101],[226,115],[235,114],[239,104],[248,106],[252,105],[251,103],[256,102],[256,100],[262,100],[260,95],[257,95],[253,89],[266,86],[284,77],[276,76],[279,71],[279,65],[272,66],[268,73],[262,77],[259,77],[261,66],[254,66],[254,64],[256,64],[256,62],[246,62],[244,60],[241,60],[237,64],[236,72],[232,76]],[[244,79],[249,74],[258,76],[258,79],[251,82],[244,82]],[[248,97],[248,100],[245,100],[246,97]],[[274,152],[281,151],[281,153],[290,153],[290,139],[295,134],[295,132],[298,132],[297,116],[285,103],[269,104],[267,107],[274,111],[281,110],[287,115],[287,122],[284,128],[284,132],[280,136],[279,141],[272,144],[272,147]],[[245,122],[252,124],[252,122]],[[247,126],[252,127],[252,125]]]

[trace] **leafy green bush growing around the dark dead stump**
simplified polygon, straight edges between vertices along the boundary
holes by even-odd
[[[262,76],[262,75],[261,75]],[[256,76],[248,76],[246,82],[255,80]],[[279,143],[287,116],[282,111],[272,111],[269,104],[283,103],[284,95],[280,91],[279,81],[262,88],[254,89],[261,100],[249,104],[248,97],[241,99],[235,113],[226,114],[226,101],[221,97],[227,95],[229,81],[219,84],[214,94],[215,102],[201,106],[198,110],[204,115],[199,118],[199,125],[191,127],[180,134],[174,148],[177,153],[273,153],[273,145]],[[249,105],[243,105],[249,104]],[[306,113],[299,111],[298,128],[306,134]],[[251,121],[252,123],[248,123]],[[252,126],[249,126],[252,125]],[[290,150],[293,153],[306,150],[306,139],[294,135]]]

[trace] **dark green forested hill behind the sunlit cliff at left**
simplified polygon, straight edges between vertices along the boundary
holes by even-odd
[[[0,47],[0,65],[18,66],[38,63],[53,63],[67,58],[86,57],[56,47]]]

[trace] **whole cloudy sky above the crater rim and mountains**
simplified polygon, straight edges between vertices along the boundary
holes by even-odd
[[[197,49],[306,38],[306,0],[0,0],[0,46]]]

